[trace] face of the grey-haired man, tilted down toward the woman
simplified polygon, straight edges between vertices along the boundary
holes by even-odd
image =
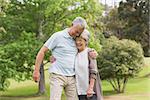
[[[81,28],[80,25],[75,25],[75,26],[72,26],[71,32],[74,37],[77,37],[77,36],[80,36],[83,30],[84,29]]]

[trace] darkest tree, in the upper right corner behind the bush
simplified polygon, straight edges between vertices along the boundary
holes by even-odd
[[[118,18],[127,24],[124,38],[140,42],[145,56],[150,56],[149,49],[149,0],[126,0],[120,2]]]

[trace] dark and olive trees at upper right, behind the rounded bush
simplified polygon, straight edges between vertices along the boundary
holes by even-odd
[[[121,1],[104,19],[106,31],[120,39],[139,42],[144,55],[150,56],[149,0]]]

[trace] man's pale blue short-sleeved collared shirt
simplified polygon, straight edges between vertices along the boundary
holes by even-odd
[[[52,51],[56,61],[49,68],[50,73],[65,76],[75,75],[75,57],[77,48],[74,39],[69,35],[68,29],[54,33],[44,44]]]

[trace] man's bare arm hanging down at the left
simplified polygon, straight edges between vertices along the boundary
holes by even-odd
[[[33,72],[33,80],[35,82],[39,81],[40,78],[40,65],[44,59],[45,53],[48,51],[48,48],[46,46],[43,46],[40,51],[38,52],[37,56],[36,56],[36,61],[35,61],[35,69]]]

